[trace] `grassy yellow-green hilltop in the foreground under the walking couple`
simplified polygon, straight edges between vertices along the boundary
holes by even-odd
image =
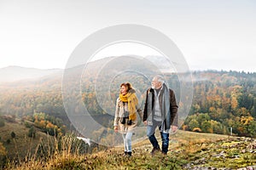
[[[10,163],[6,169],[207,169],[208,167],[256,168],[256,139],[212,133],[178,131],[171,135],[167,156],[151,156],[148,139],[133,144],[133,155],[123,156],[122,148],[94,150],[79,155],[58,150],[48,161]],[[79,148],[77,148],[80,150]]]

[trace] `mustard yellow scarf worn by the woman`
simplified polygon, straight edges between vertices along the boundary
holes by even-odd
[[[135,90],[129,90],[129,92],[125,95],[119,94],[119,99],[122,102],[128,103],[129,119],[131,121],[135,121],[137,113],[136,105],[138,104],[138,99],[135,94]]]

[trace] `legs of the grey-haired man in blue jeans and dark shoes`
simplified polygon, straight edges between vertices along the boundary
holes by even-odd
[[[160,130],[161,122],[153,122],[153,126],[147,126],[147,136],[154,148],[159,147],[158,141],[154,136],[156,127],[159,127],[159,130]],[[162,152],[167,153],[168,146],[169,146],[169,133],[160,132],[160,135],[162,139]]]

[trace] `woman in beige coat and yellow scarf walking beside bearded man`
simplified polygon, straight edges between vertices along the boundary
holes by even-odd
[[[126,156],[131,156],[131,136],[137,127],[137,115],[143,120],[143,111],[138,105],[135,89],[130,82],[122,83],[116,101],[113,129],[122,134]]]

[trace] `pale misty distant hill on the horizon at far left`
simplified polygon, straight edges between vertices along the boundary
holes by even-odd
[[[0,82],[15,82],[26,79],[35,79],[61,71],[61,69],[42,70],[20,66],[8,66],[0,69]]]

